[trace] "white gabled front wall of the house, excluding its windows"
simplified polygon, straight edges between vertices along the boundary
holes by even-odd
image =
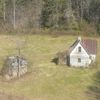
[[[81,52],[78,51],[79,47],[81,47]],[[79,62],[78,59],[81,61]],[[91,59],[79,43],[70,54],[70,65],[74,67],[88,67],[89,64],[91,64]]]

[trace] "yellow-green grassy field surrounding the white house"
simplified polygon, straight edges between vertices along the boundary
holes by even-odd
[[[100,100],[98,87],[100,77],[97,77],[100,69],[100,52],[97,65],[93,68],[70,68],[51,62],[57,52],[68,49],[76,38],[76,36],[0,35],[0,68],[7,56],[17,55],[18,41],[25,41],[21,53],[29,62],[29,73],[20,79],[6,82],[0,76],[0,93],[27,98],[25,100]],[[100,51],[100,38],[96,39]]]

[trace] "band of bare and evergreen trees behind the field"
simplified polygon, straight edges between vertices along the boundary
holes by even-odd
[[[100,0],[0,0],[0,29],[31,28],[100,34]]]

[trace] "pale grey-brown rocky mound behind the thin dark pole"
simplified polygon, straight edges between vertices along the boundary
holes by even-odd
[[[7,57],[4,67],[1,70],[2,75],[6,79],[20,77],[27,72],[27,61],[23,57],[10,56]]]

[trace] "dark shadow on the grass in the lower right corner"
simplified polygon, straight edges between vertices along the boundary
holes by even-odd
[[[90,100],[100,100],[100,71],[94,75],[93,84],[88,89]]]

